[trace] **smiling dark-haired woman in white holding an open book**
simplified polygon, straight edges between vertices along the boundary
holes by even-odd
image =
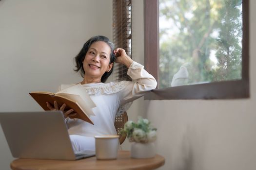
[[[83,80],[80,84],[90,95],[97,107],[93,108],[96,116],[91,117],[94,125],[81,119],[70,119],[76,113],[73,109],[64,110],[55,102],[47,103],[51,110],[61,110],[66,118],[68,132],[75,151],[95,150],[96,135],[117,135],[115,117],[123,114],[131,102],[155,89],[157,82],[142,65],[133,61],[123,49],[114,50],[114,44],[105,36],[93,36],[75,57],[76,69]],[[104,83],[113,71],[114,62],[124,64],[127,74],[133,82],[121,81]],[[59,90],[71,85],[60,85]]]

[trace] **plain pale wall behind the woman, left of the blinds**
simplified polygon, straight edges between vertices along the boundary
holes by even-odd
[[[28,92],[81,81],[73,58],[98,34],[112,39],[112,0],[1,0],[0,112],[42,110]],[[12,160],[0,128],[0,170]]]

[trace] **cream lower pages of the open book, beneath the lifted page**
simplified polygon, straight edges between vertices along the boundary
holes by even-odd
[[[95,116],[95,114],[93,113],[92,109],[90,107],[88,107],[88,105],[85,103],[85,101],[79,95],[67,94],[67,93],[58,93],[58,94],[55,94],[55,96],[61,96],[61,97],[67,98],[67,99],[69,99],[71,101],[77,102],[79,104],[80,108],[82,108],[82,110],[87,115]]]

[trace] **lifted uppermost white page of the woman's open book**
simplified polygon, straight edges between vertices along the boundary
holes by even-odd
[[[83,86],[81,84],[73,85],[71,87],[65,88],[63,90],[58,91],[55,94],[67,93],[67,94],[76,94],[81,97],[82,100],[87,104],[88,107],[93,108],[96,107],[96,104],[92,101],[90,96],[86,93]]]

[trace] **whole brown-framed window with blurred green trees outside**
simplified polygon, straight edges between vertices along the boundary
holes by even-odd
[[[248,6],[249,0],[144,0],[145,67],[158,80],[145,99],[248,98]]]

